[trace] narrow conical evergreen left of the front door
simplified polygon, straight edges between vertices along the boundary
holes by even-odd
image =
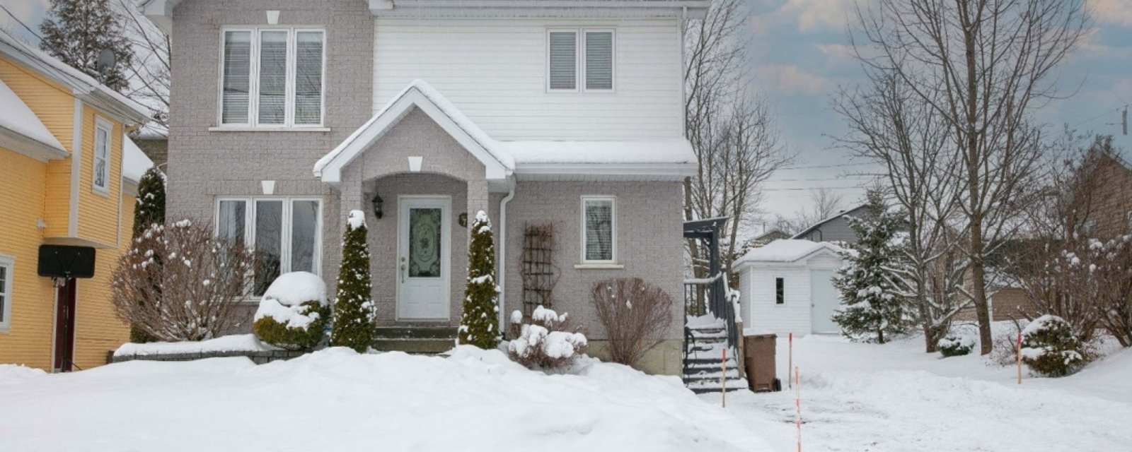
[[[374,342],[374,302],[366,245],[366,216],[352,210],[342,240],[342,264],[334,301],[332,347],[350,347],[365,353]]]

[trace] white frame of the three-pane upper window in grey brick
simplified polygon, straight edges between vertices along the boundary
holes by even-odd
[[[250,34],[251,46],[248,53],[248,121],[224,122],[224,35],[229,32],[247,32]],[[259,124],[259,44],[264,32],[288,32],[286,50],[286,89],[284,101],[284,114],[282,124]],[[323,35],[323,76],[319,86],[319,113],[316,124],[294,123],[295,103],[295,73],[298,72],[298,34],[320,33]],[[220,31],[220,53],[218,72],[216,73],[216,124],[217,129],[263,129],[263,130],[288,130],[288,129],[323,129],[326,123],[326,29],[311,27],[221,27]]]

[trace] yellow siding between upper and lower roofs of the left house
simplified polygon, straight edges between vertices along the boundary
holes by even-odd
[[[72,149],[75,97],[70,89],[2,55],[0,79],[32,108],[67,150]],[[43,219],[48,224],[44,234],[66,236],[70,215],[70,158],[51,160],[46,171],[46,190],[50,195],[44,199]]]

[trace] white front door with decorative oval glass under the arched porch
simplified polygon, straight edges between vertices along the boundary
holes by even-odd
[[[448,320],[452,199],[401,197],[397,320]]]

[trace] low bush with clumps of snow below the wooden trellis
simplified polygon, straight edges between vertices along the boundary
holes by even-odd
[[[523,313],[515,311],[512,321],[522,321]],[[585,353],[589,342],[581,332],[561,331],[566,313],[539,306],[531,313],[531,323],[520,327],[518,337],[507,344],[507,355],[529,368],[563,368]]]

